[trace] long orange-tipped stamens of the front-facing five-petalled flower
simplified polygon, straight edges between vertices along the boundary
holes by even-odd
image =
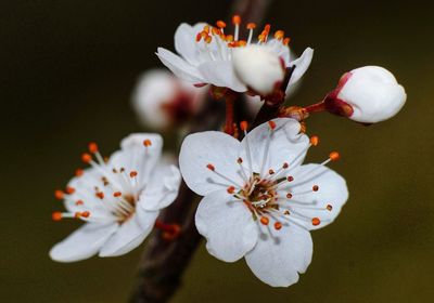
[[[291,163],[283,162],[278,169],[270,168],[265,170],[264,166],[268,157],[271,134],[276,129],[276,123],[273,121],[269,121],[268,124],[269,135],[264,152],[263,168],[260,172],[254,172],[252,169],[252,156],[247,141],[247,123],[245,121],[240,123],[240,129],[244,131],[246,140],[247,167],[244,166],[245,161],[241,157],[237,159],[237,163],[240,167],[244,184],[238,184],[235,181],[224,175],[213,163],[208,163],[207,169],[230,184],[227,187],[227,192],[232,195],[234,200],[243,202],[252,212],[253,219],[261,225],[268,226],[270,219],[273,219],[273,227],[276,230],[279,230],[282,226],[291,223],[305,228],[299,224],[299,221],[308,221],[311,225],[318,226],[321,224],[319,218],[308,218],[298,212],[298,210],[314,209],[320,211],[332,211],[332,203],[328,201],[324,206],[318,206],[318,201],[316,200],[303,200],[303,195],[320,190],[320,187],[317,184],[312,184],[310,189],[305,192],[296,192],[294,188],[297,184],[305,184],[310,180],[315,180],[319,174],[317,172],[318,168],[326,166],[330,161],[337,160],[340,155],[337,152],[330,153],[329,158],[320,163],[320,166],[317,166],[308,172],[302,173],[302,175],[298,176],[299,180],[295,180],[294,176],[291,175],[291,169],[299,164],[299,158],[303,158],[302,155],[304,155],[309,147],[317,146],[319,143],[318,136],[312,136],[310,137],[309,145],[302,150]]]

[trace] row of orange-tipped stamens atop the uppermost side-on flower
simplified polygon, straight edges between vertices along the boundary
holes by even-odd
[[[246,40],[240,39],[241,17],[239,15],[234,15],[232,17],[232,24],[234,26],[233,35],[225,34],[225,28],[227,25],[222,21],[216,22],[216,26],[205,25],[204,28],[196,35],[196,42],[204,41],[206,44],[209,44],[213,39],[215,39],[217,43],[224,42],[227,44],[228,48],[239,48],[251,44],[253,39],[253,31],[256,28],[256,24],[247,23],[246,29],[248,30],[248,37]],[[269,24],[265,25],[264,29],[257,37],[258,44],[267,42],[270,29],[271,26]],[[288,45],[291,40],[289,37],[284,37],[283,30],[277,30],[273,37],[283,45]]]

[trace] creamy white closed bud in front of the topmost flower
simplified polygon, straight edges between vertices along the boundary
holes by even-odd
[[[271,94],[284,78],[284,63],[266,45],[234,49],[232,67],[240,81],[260,95]]]

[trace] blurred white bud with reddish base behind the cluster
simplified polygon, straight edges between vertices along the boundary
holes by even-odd
[[[152,69],[139,79],[132,106],[140,121],[152,129],[180,126],[203,105],[204,90],[181,81],[164,69]]]

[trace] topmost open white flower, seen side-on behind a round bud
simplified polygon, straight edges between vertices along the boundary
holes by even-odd
[[[253,31],[256,27],[254,23],[248,23],[246,28],[248,36],[246,40],[240,38],[240,16],[233,16],[234,34],[225,32],[226,24],[222,21],[216,23],[216,27],[205,23],[194,26],[181,24],[175,32],[175,49],[179,55],[158,48],[157,55],[176,76],[197,85],[213,84],[215,87],[229,88],[235,92],[245,92],[245,83],[240,81],[232,67],[233,50],[256,43],[267,47],[278,54],[284,67],[296,66],[286,91],[303,76],[308,68],[314,51],[308,48],[301,57],[294,60],[290,55],[288,43],[289,38],[284,38],[283,30],[275,32],[275,39],[268,40],[270,25],[266,25],[264,30],[254,42]]]

